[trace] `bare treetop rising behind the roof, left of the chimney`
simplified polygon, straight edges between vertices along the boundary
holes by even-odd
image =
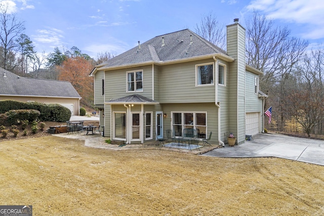
[[[213,12],[201,18],[200,25],[196,24],[195,31],[212,44],[226,50],[225,24],[219,23]]]

